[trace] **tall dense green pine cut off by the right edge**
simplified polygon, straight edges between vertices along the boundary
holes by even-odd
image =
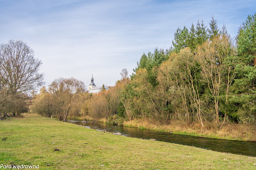
[[[232,85],[234,110],[244,123],[256,123],[256,13],[249,15],[237,35],[236,79]]]

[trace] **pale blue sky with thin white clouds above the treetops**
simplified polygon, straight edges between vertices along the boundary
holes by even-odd
[[[3,1],[0,43],[22,40],[42,60],[45,85],[74,77],[115,85],[145,52],[170,48],[178,27],[216,18],[232,38],[256,1]]]

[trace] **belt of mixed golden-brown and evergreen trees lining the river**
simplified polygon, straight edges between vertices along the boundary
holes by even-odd
[[[172,48],[143,53],[134,73],[129,76],[123,69],[115,87],[91,95],[82,81],[59,78],[33,94],[30,110],[64,121],[73,116],[113,124],[151,118],[202,127],[205,122],[255,125],[255,64],[256,14],[239,27],[236,39],[212,17],[208,26],[198,21],[190,28],[178,28]],[[0,95],[7,91],[2,88]],[[0,111],[16,110],[1,106]]]

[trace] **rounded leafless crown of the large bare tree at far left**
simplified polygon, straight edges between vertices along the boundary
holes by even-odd
[[[38,73],[42,62],[35,59],[34,52],[22,41],[9,41],[0,45],[0,82],[12,94],[29,92],[41,86],[43,74]]]

